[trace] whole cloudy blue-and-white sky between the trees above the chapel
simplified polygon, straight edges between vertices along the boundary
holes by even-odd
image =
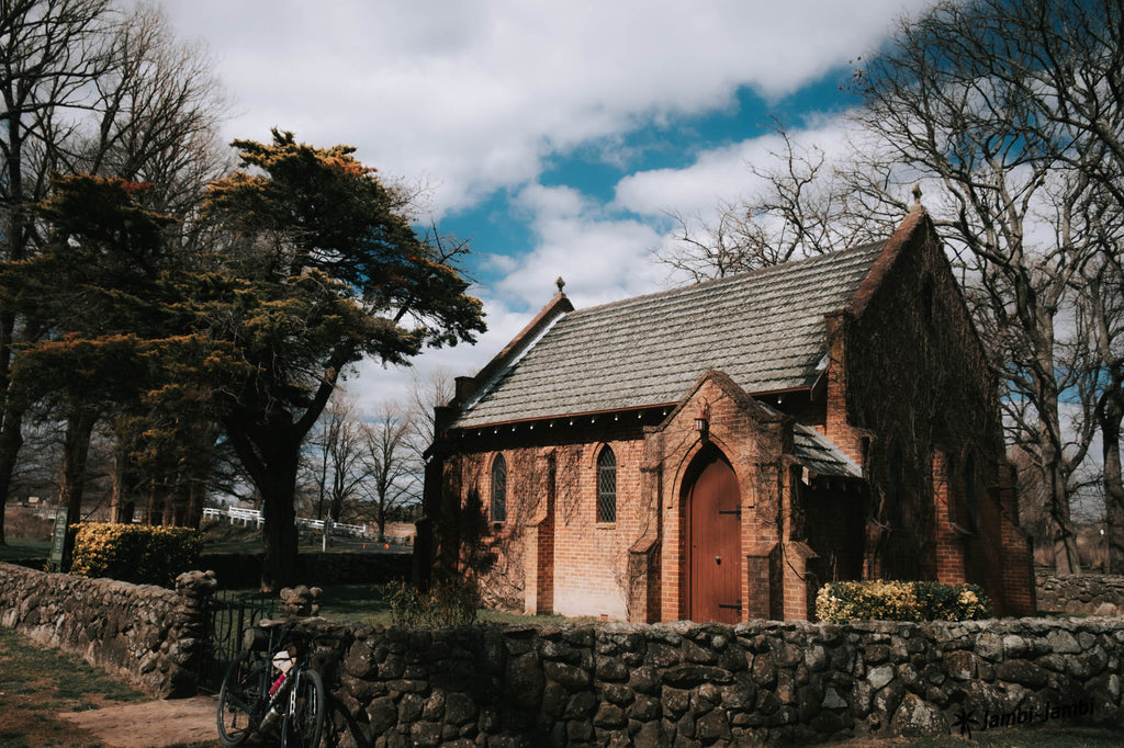
[[[474,347],[415,366],[473,374],[553,294],[578,307],[670,284],[651,253],[667,211],[752,189],[770,117],[827,149],[849,62],[927,0],[163,0],[230,94],[229,139],[272,127],[346,143],[429,186],[429,217],[471,239],[488,314]],[[364,366],[373,408],[410,372]]]

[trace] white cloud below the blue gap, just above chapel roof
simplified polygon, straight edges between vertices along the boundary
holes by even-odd
[[[844,146],[842,121],[818,125],[794,130],[792,136],[817,144],[828,157],[839,156]],[[681,170],[629,175],[620,180],[609,206],[570,186],[527,185],[513,201],[513,212],[529,225],[534,246],[523,255],[489,257],[489,263],[504,271],[504,277],[491,290],[495,298],[486,303],[488,335],[474,353],[452,349],[426,354],[425,365],[475,373],[550,300],[560,276],[578,308],[676,284],[667,267],[652,263],[652,252],[667,248],[671,241],[661,232],[662,211],[676,208],[705,215],[719,199],[736,199],[754,186],[746,163],[763,165],[781,145],[779,136],[767,135],[704,152]],[[623,211],[641,218],[623,217]]]

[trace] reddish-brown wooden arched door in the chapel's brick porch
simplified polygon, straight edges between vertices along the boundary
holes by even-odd
[[[742,510],[737,476],[723,456],[700,455],[687,494],[688,618],[742,618]]]

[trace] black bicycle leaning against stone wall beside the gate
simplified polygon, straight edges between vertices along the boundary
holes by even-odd
[[[281,746],[316,748],[324,732],[326,692],[311,665],[318,642],[339,637],[306,633],[291,622],[260,621],[246,630],[243,650],[223,678],[218,736],[241,746],[251,735],[280,727]]]

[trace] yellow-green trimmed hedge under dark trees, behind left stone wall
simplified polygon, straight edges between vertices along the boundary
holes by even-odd
[[[74,528],[71,574],[171,587],[199,563],[202,540],[180,527],[83,522]]]

